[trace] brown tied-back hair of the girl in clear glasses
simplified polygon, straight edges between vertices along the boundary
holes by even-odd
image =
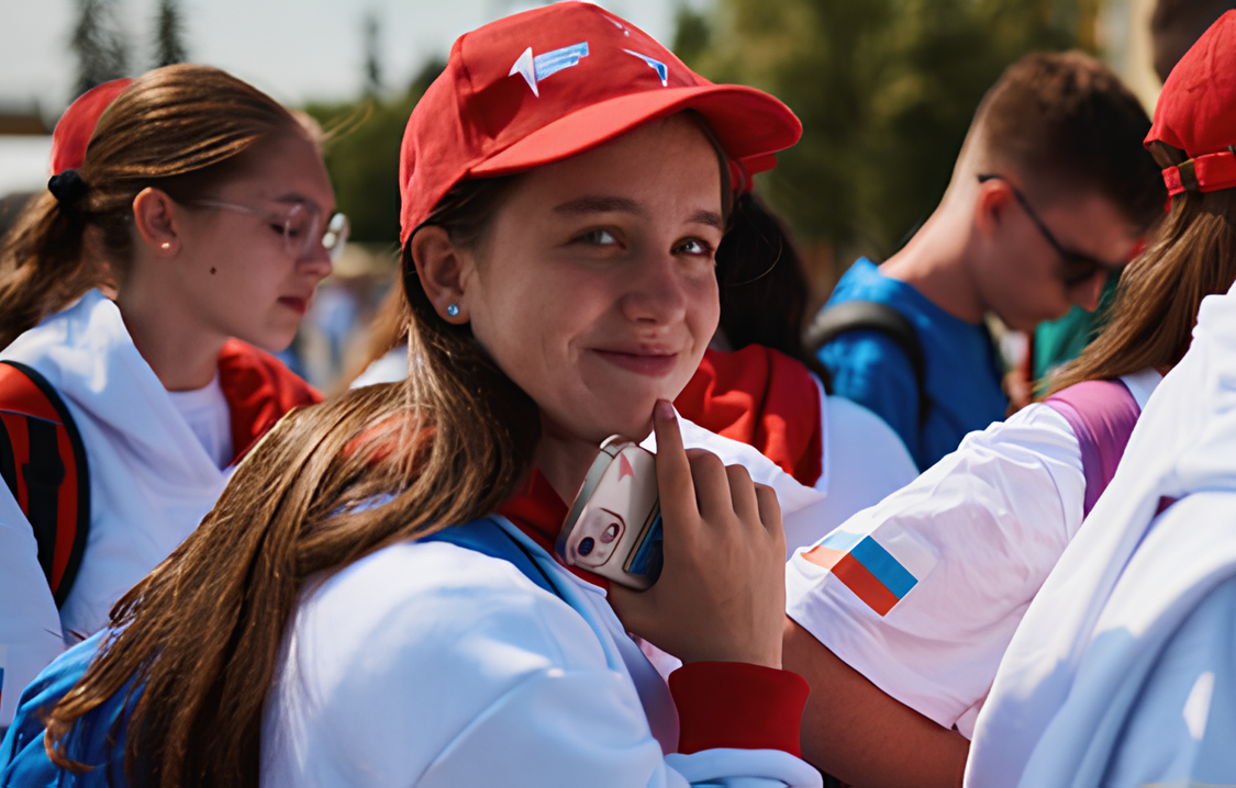
[[[90,288],[122,282],[142,189],[192,199],[231,177],[257,142],[299,128],[274,99],[215,68],[168,65],[136,79],[99,119],[78,170],[84,193],[62,203],[43,191],[6,236],[0,347]]]

